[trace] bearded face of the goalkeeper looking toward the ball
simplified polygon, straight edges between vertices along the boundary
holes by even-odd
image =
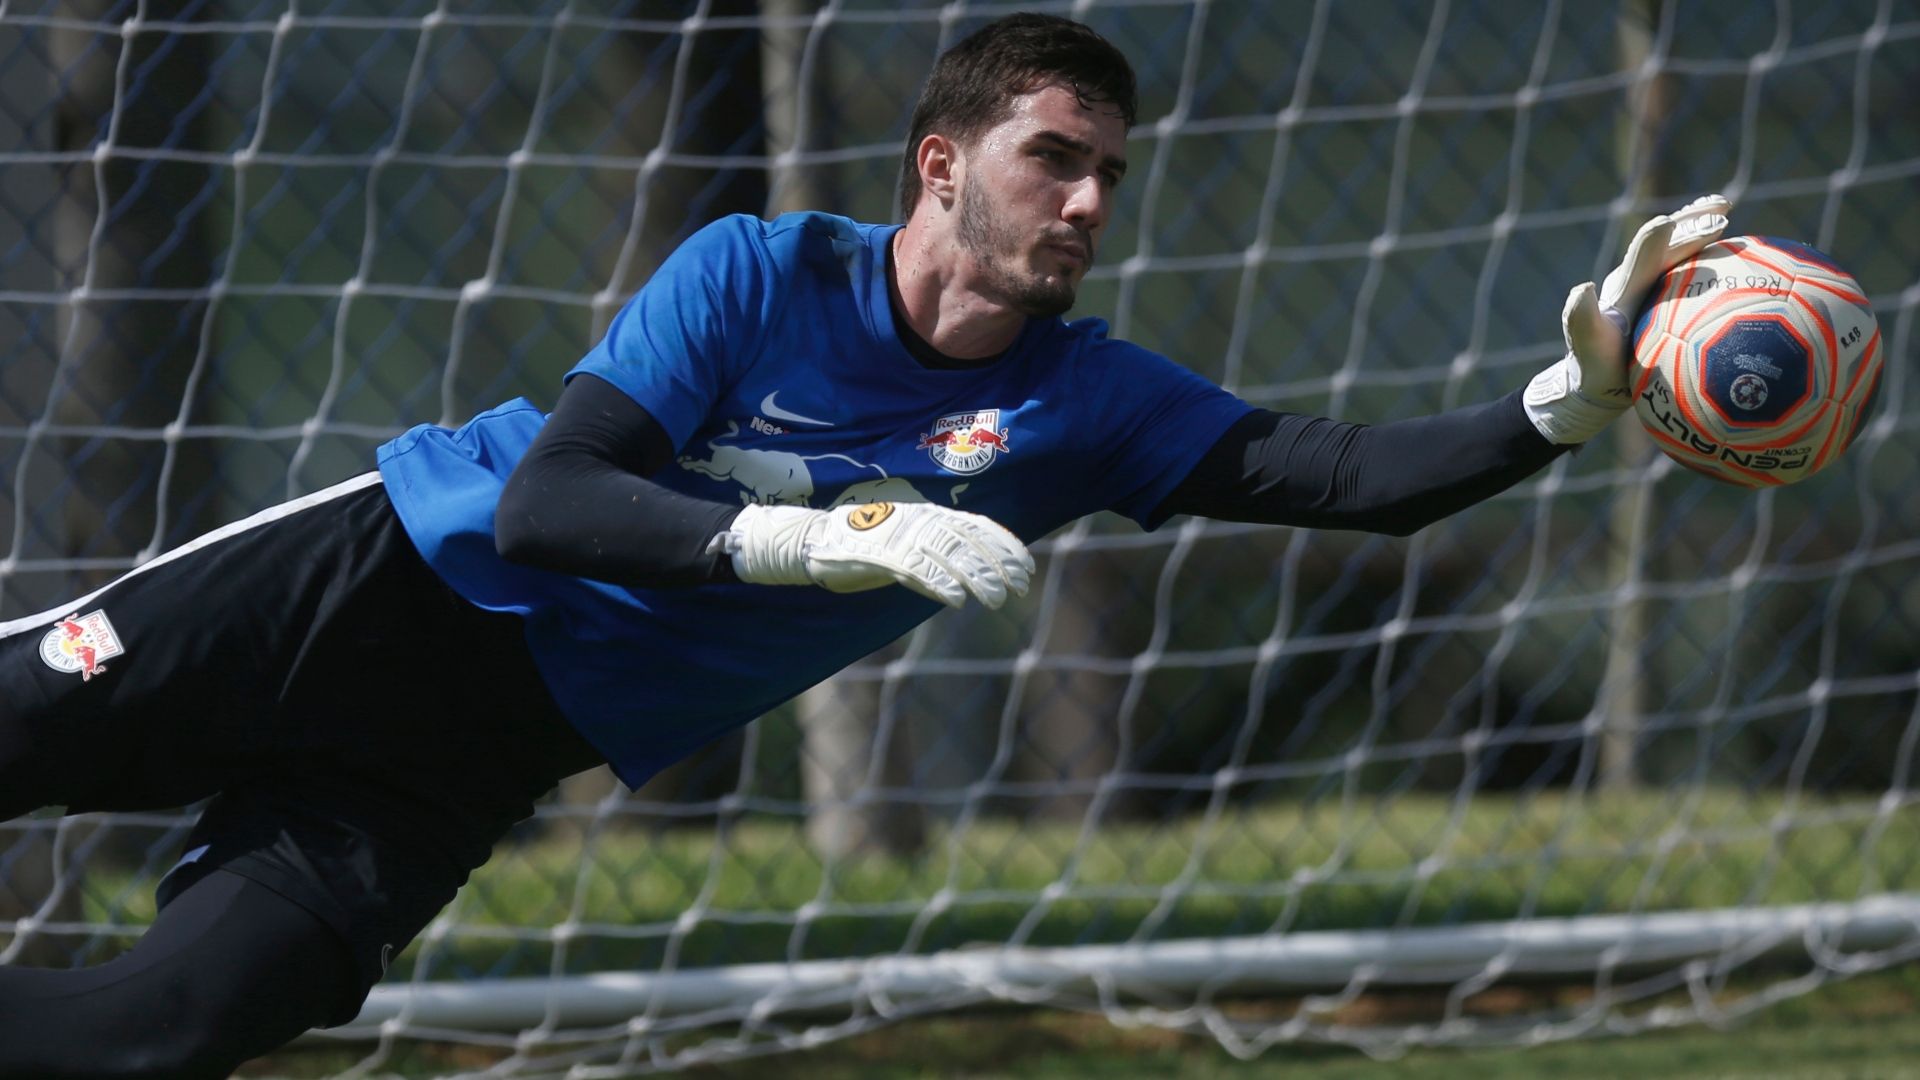
[[[1117,110],[1043,86],[962,152],[956,234],[985,292],[1025,315],[1073,307],[1127,171],[1125,142]]]

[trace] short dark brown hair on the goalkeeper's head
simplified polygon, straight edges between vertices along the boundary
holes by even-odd
[[[927,135],[941,133],[972,146],[981,133],[1014,113],[1014,98],[1060,85],[1083,106],[1114,106],[1127,127],[1139,108],[1133,65],[1092,27],[1021,12],[995,19],[948,48],[933,63],[914,106],[914,127],[900,163],[900,219],[920,204],[914,158]]]

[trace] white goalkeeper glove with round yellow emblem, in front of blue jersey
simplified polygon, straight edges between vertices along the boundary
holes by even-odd
[[[912,502],[749,505],[708,552],[733,555],[733,575],[749,584],[833,592],[904,584],[948,607],[964,605],[968,594],[1000,607],[1033,580],[1027,546],[993,519]]]

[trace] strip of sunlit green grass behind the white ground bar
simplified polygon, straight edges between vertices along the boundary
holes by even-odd
[[[1428,865],[1421,874],[1413,867]],[[1066,882],[1052,903],[1041,890]],[[1532,799],[1417,794],[1229,807],[1167,822],[975,821],[935,828],[918,855],[814,857],[793,819],[714,828],[549,822],[503,846],[457,901],[432,978],[547,974],[540,934],[566,919],[616,926],[576,938],[561,970],[651,970],[676,920],[680,967],[1031,945],[1450,926],[1851,899],[1920,888],[1920,807],[1874,796],[1797,799],[1647,790]],[[705,890],[705,899],[701,894]],[[1173,901],[1167,903],[1167,896]],[[941,903],[935,903],[941,901]],[[799,919],[803,905],[814,913]],[[86,917],[144,922],[150,890],[86,878]],[[534,928],[534,936],[524,936]],[[396,976],[422,959],[409,949]]]

